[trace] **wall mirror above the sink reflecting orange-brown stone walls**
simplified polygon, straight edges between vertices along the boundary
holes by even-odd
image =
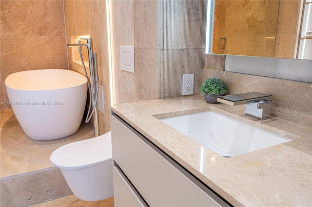
[[[312,0],[208,0],[207,17],[206,53],[312,59]]]

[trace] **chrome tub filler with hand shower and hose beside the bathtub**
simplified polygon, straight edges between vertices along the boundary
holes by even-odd
[[[93,115],[93,121],[94,121],[94,130],[95,130],[95,136],[99,136],[99,127],[98,127],[98,110],[97,110],[97,101],[98,101],[98,62],[97,62],[97,53],[93,52],[93,43],[92,38],[80,38],[83,40],[86,40],[87,43],[81,43],[79,40],[78,43],[72,43],[67,44],[68,47],[79,47],[79,54],[80,59],[82,63],[82,67],[85,72],[85,76],[87,77],[88,82],[88,88],[89,88],[89,96],[90,96],[90,102],[89,102],[89,109],[88,114],[86,118],[86,123],[88,123]],[[83,62],[82,53],[81,53],[81,47],[86,46],[88,48],[88,54],[89,54],[89,69],[90,69],[90,82],[88,79],[87,71]],[[92,105],[92,106],[91,106]],[[92,108],[92,110],[91,110]],[[91,111],[91,113],[90,113]]]

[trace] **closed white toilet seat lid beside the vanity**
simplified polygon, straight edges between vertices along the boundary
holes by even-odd
[[[80,169],[112,161],[111,132],[61,146],[50,159],[63,169]]]

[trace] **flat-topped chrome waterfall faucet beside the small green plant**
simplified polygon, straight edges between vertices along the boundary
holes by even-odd
[[[246,104],[245,115],[258,120],[270,119],[274,105],[272,95],[259,92],[219,96],[217,101],[232,106]]]

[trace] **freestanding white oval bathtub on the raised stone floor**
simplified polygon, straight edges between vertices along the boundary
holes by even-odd
[[[87,79],[67,69],[27,70],[5,79],[6,92],[29,138],[53,140],[77,132],[87,98]]]

